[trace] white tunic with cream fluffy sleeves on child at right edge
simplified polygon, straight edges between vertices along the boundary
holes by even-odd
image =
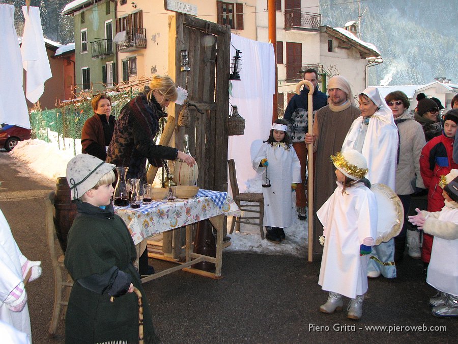
[[[423,231],[434,235],[426,282],[458,296],[458,204],[445,201],[441,211],[421,213],[426,218]]]

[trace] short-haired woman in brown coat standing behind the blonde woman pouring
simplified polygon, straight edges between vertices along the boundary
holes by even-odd
[[[106,160],[106,150],[115,131],[116,119],[111,115],[111,97],[104,93],[92,99],[94,116],[84,122],[81,131],[81,152]]]

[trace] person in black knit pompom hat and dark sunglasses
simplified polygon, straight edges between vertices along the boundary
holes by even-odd
[[[417,113],[415,120],[423,127],[426,142],[432,138],[441,135],[442,125],[438,120],[439,108],[433,99],[426,98],[424,93],[417,95]]]

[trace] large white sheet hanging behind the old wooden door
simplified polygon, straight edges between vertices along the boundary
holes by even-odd
[[[245,133],[230,136],[228,159],[234,159],[240,192],[247,189],[246,181],[259,178],[251,167],[247,152],[255,140],[267,140],[272,126],[272,96],[275,92],[275,56],[273,45],[231,34],[231,44],[241,51],[240,81],[232,81],[230,102],[238,107],[245,119]],[[231,59],[235,49],[231,46]],[[260,181],[261,188],[261,181]]]

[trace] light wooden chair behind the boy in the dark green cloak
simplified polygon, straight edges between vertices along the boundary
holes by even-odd
[[[59,315],[62,310],[62,319],[65,319],[67,312],[68,298],[73,285],[73,280],[70,277],[67,269],[64,266],[64,254],[59,245],[58,237],[55,233],[53,208],[54,208],[55,192],[49,193],[45,199],[46,207],[46,233],[48,239],[48,248],[51,255],[52,270],[54,271],[55,294],[54,308],[52,310],[51,325],[49,326],[49,335],[53,336],[59,321]],[[65,281],[62,277],[65,277]]]

